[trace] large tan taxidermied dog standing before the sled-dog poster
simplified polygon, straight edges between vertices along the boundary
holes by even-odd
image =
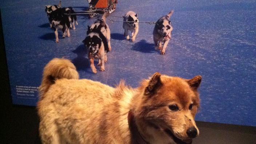
[[[138,88],[78,79],[69,60],[45,66],[37,103],[43,144],[183,144],[199,135],[201,76],[155,73]]]

